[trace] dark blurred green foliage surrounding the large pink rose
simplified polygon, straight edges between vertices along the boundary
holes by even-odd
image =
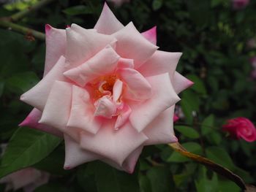
[[[35,2],[2,4],[0,17]],[[121,23],[132,20],[139,31],[157,26],[161,50],[183,53],[177,70],[195,85],[181,93],[178,103],[184,112],[184,118],[175,126],[181,144],[256,185],[255,143],[230,139],[221,130],[229,118],[256,120],[256,85],[249,60],[256,55],[256,45],[252,45],[256,38],[256,1],[250,1],[244,9],[233,9],[230,0],[131,0],[121,7],[109,5]],[[45,23],[56,28],[71,23],[93,28],[102,6],[103,1],[99,0],[53,1],[18,24],[37,31],[44,31]],[[10,28],[1,28],[0,38],[0,142],[5,143],[31,110],[19,101],[19,96],[42,78],[45,42],[31,41]],[[22,139],[26,138],[18,142]],[[61,143],[34,164],[53,175],[37,192],[240,191],[235,183],[173,152],[167,145],[146,147],[134,174],[118,172],[99,162],[64,171],[63,163]],[[4,184],[0,191],[4,191]]]

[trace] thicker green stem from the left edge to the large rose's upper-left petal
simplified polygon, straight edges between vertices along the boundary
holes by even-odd
[[[39,32],[39,31],[35,31],[34,29],[31,28],[26,28],[23,26],[20,26],[18,24],[12,23],[8,20],[0,20],[0,27],[2,28],[7,28],[9,30],[12,31],[17,31],[20,34],[25,34],[27,36],[32,36],[32,37],[36,37],[37,39],[40,40],[45,40],[45,34]]]

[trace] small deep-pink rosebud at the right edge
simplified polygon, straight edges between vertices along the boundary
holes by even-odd
[[[227,124],[222,126],[222,130],[229,132],[234,139],[244,139],[246,142],[256,140],[256,128],[247,118],[227,120]]]

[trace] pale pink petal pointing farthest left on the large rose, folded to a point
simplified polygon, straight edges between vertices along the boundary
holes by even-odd
[[[46,100],[52,88],[53,82],[55,80],[66,81],[67,78],[62,74],[65,71],[65,58],[61,56],[59,61],[50,72],[26,93],[20,96],[20,100],[36,107],[38,110],[42,111],[45,107]]]

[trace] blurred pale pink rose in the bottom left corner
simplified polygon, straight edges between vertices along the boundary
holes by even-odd
[[[0,183],[6,183],[5,191],[18,190],[23,188],[25,192],[32,192],[35,188],[48,183],[49,174],[41,172],[34,168],[21,169],[18,172],[8,174],[6,177],[1,178]]]

